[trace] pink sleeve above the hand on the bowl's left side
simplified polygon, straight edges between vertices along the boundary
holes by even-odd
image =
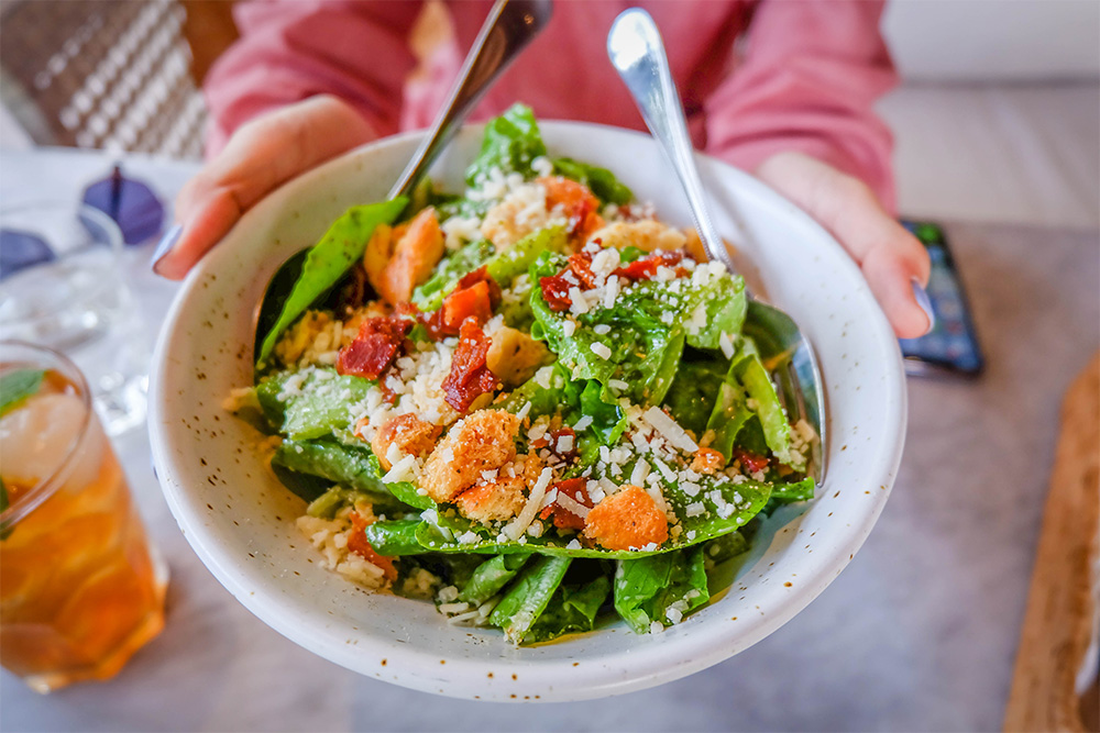
[[[204,82],[207,155],[252,118],[319,93],[350,102],[377,135],[397,131],[419,2],[277,0],[233,10],[241,37]]]

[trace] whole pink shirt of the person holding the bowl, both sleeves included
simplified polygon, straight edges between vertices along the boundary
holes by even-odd
[[[559,1],[473,119],[521,101],[539,119],[644,130],[605,49],[612,21],[634,5],[661,29],[697,148],[746,170],[800,151],[861,178],[893,208],[891,136],[872,110],[897,80],[878,0]],[[261,112],[322,92],[354,104],[378,136],[428,126],[491,7],[449,2],[457,46],[444,44],[428,73],[411,78],[408,38],[419,2],[240,3],[241,38],[205,85],[208,152]],[[747,46],[735,53],[745,31]]]

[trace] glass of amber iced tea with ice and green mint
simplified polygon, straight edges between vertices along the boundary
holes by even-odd
[[[0,663],[40,692],[107,679],[164,626],[150,544],[80,371],[0,342]]]

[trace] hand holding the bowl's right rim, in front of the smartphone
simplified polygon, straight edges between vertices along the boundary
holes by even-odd
[[[847,249],[901,338],[932,329],[928,253],[862,181],[802,153],[779,153],[757,178],[809,213]]]

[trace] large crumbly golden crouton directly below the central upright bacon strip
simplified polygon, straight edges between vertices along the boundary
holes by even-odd
[[[451,425],[424,466],[424,489],[436,501],[451,501],[473,486],[482,471],[516,457],[519,419],[504,410],[479,410]]]

